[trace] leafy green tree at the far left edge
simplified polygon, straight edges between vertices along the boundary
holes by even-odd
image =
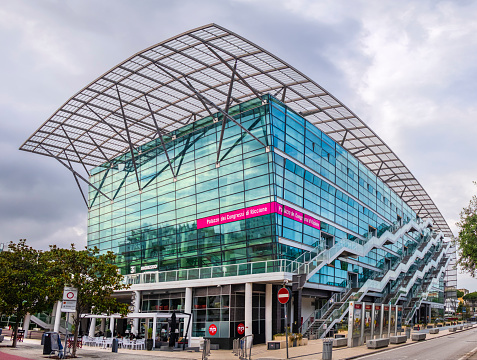
[[[0,313],[15,315],[13,347],[20,319],[47,310],[61,296],[61,285],[45,252],[21,239],[0,252]]]

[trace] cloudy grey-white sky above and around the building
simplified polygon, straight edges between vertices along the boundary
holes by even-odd
[[[86,245],[71,173],[19,151],[72,95],[134,53],[216,23],[302,71],[400,157],[454,234],[477,188],[477,2],[2,0],[0,243]],[[477,280],[459,273],[459,287]]]

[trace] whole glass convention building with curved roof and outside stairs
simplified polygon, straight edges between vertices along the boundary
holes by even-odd
[[[455,289],[452,233],[399,158],[324,89],[217,25],[113,68],[22,149],[88,184],[88,246],[114,252],[131,285],[117,296],[135,313],[192,314],[189,339],[271,340],[283,286],[293,331],[316,336],[352,300],[430,321]]]

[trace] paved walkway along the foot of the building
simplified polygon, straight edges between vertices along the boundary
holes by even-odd
[[[442,336],[447,336],[450,333],[447,329],[439,328],[439,334],[426,334],[426,339],[433,341]],[[469,329],[470,330],[470,329]],[[463,330],[467,331],[467,330]],[[427,332],[423,330],[421,332]],[[411,341],[408,340],[407,344]],[[10,345],[10,341],[4,341],[0,347],[0,359],[1,360],[44,360],[46,358],[43,355],[43,347],[40,345],[40,341],[37,339],[26,339],[25,342],[19,343],[17,349],[3,347],[4,345]],[[399,346],[405,346],[406,344],[389,345],[387,349],[396,348]],[[321,359],[321,352],[323,348],[322,340],[310,340],[308,345],[299,346],[289,349],[289,358],[297,360],[311,360]],[[379,350],[378,350],[379,351]],[[375,350],[368,350],[365,346],[355,348],[341,348],[333,349],[333,360],[339,359],[351,359],[357,358],[369,354],[375,353]],[[119,349],[118,353],[111,352],[110,349],[99,349],[95,347],[85,346],[82,349],[77,350],[77,355],[83,359],[155,359],[155,360],[199,360],[201,359],[201,353],[198,352],[166,352],[166,351],[146,351],[146,350],[128,350]],[[13,357],[7,357],[13,356]],[[253,347],[252,358],[254,360],[265,359],[286,359],[286,350],[267,350],[266,345],[257,345]],[[212,350],[209,356],[210,360],[236,360],[237,357],[232,354],[231,350]]]

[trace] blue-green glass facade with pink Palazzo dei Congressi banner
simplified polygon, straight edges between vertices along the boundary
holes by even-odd
[[[397,220],[416,218],[356,158],[272,96],[229,113],[270,151],[226,120],[217,164],[223,117],[216,114],[164,137],[176,179],[159,139],[135,149],[137,177],[130,153],[95,168],[90,181],[107,197],[90,187],[88,246],[113,251],[130,274],[294,260],[341,239],[363,244]],[[263,204],[271,211],[248,215]],[[310,281],[344,287],[350,272],[369,278],[415,241],[405,235],[353,261],[335,260]]]

